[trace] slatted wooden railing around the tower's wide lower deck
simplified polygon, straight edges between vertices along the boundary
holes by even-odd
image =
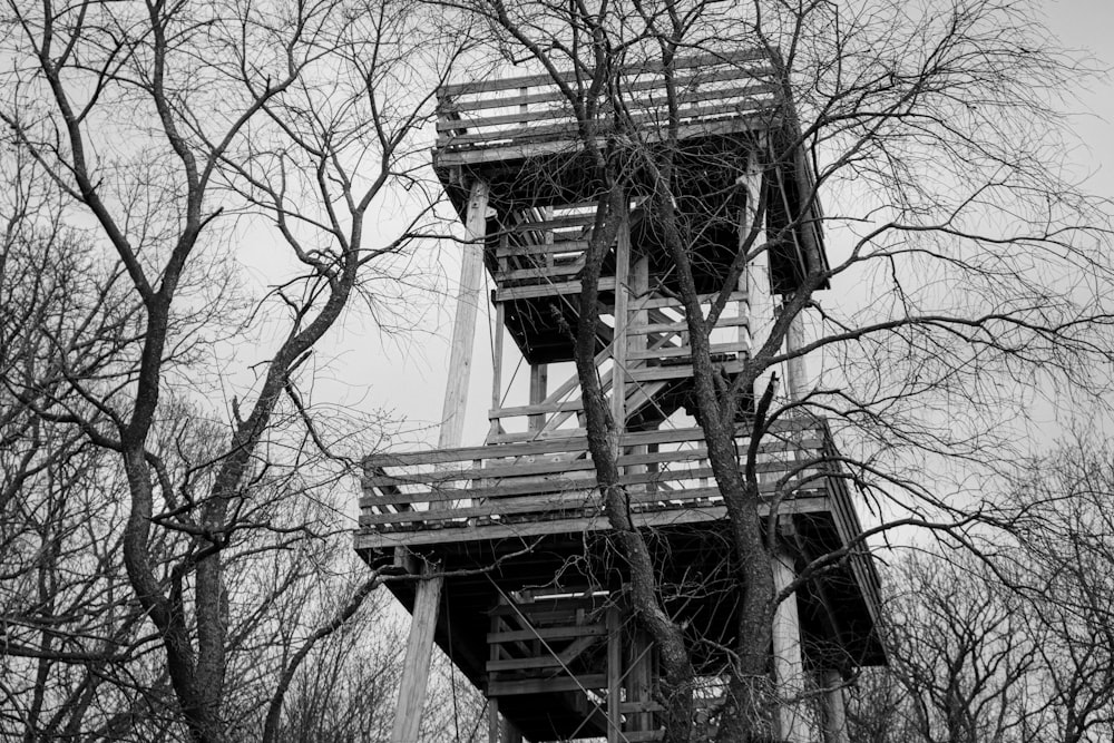
[[[825,436],[822,426],[802,420],[764,437],[760,485],[764,495],[784,497],[782,512],[832,510]],[[747,444],[736,440],[741,456]],[[723,518],[700,429],[626,433],[620,446],[620,485],[641,525]],[[364,547],[607,528],[584,437],[375,454],[364,469]],[[848,510],[853,517],[851,504]]]

